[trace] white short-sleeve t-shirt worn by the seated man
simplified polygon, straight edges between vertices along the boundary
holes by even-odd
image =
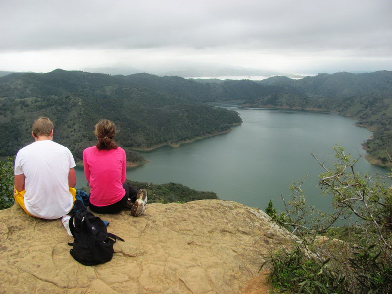
[[[71,151],[51,140],[35,141],[19,150],[15,175],[25,174],[25,206],[32,215],[58,219],[70,212],[73,197],[68,187]]]

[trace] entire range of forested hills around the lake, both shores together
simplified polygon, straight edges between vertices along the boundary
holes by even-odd
[[[0,156],[28,142],[31,122],[48,116],[55,140],[80,159],[94,144],[94,124],[113,120],[126,150],[175,143],[226,131],[241,123],[235,112],[205,102],[244,101],[244,106],[323,110],[349,115],[370,128],[366,147],[373,162],[390,164],[392,155],[392,72],[322,73],[293,80],[188,80],[147,73],[110,76],[55,70],[0,77]]]

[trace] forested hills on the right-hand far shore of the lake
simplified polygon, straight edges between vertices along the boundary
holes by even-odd
[[[248,105],[288,107],[336,112],[357,119],[357,125],[374,131],[364,147],[373,163],[391,165],[392,160],[392,72],[321,73],[314,77],[292,80],[271,77],[258,82],[276,87],[277,91]]]

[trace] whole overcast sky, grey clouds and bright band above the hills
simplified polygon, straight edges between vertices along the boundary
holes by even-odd
[[[0,70],[392,70],[392,0],[0,0]]]

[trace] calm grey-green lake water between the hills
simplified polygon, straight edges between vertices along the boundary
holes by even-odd
[[[233,200],[264,209],[270,199],[283,209],[281,195],[290,195],[289,185],[309,175],[302,186],[311,204],[325,209],[329,201],[316,189],[323,172],[321,161],[332,160],[335,144],[346,153],[366,152],[361,143],[370,136],[354,120],[327,113],[270,109],[237,109],[243,120],[233,131],[181,145],[143,153],[151,163],[130,168],[128,179],[156,184],[175,182],[201,191],[214,191]],[[386,173],[389,169],[361,158],[359,172]],[[77,170],[78,187],[85,185],[82,169]]]

